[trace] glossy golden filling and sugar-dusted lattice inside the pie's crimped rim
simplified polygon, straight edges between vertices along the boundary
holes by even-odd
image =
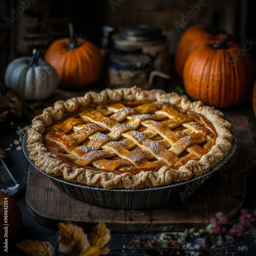
[[[202,115],[167,102],[99,102],[46,129],[54,158],[98,172],[138,173],[179,169],[200,160],[215,144],[214,126]]]

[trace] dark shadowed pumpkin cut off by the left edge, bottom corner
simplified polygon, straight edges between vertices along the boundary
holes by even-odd
[[[8,225],[7,225],[8,224]],[[0,226],[1,234],[0,242],[10,243],[17,236],[22,225],[22,211],[16,201],[6,193],[0,191]],[[7,239],[7,240],[6,240]],[[4,244],[5,246],[5,244]]]

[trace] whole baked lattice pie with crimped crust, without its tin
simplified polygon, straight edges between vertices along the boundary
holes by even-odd
[[[28,150],[52,176],[141,188],[201,175],[231,148],[231,124],[202,102],[161,90],[89,92],[33,120]]]

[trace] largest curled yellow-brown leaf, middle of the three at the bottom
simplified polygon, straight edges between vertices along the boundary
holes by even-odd
[[[87,234],[83,232],[81,227],[74,225],[70,222],[59,223],[59,251],[65,253],[77,253],[84,251],[90,247],[87,239]]]

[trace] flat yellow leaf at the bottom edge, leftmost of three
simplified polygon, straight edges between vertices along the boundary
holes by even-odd
[[[20,250],[25,251],[29,255],[45,255],[55,256],[55,248],[50,242],[41,242],[38,240],[25,239],[15,244]]]

